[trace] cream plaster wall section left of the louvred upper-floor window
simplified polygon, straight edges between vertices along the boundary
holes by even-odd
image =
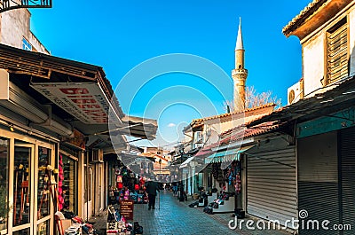
[[[304,96],[323,87],[325,34],[314,35],[303,45]]]

